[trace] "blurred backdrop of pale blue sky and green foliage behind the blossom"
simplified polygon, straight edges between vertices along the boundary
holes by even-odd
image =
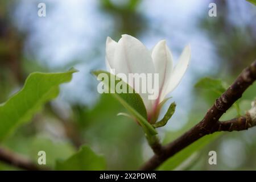
[[[38,16],[40,2],[46,3],[46,17]],[[216,17],[208,16],[210,2],[217,5]],[[56,100],[2,145],[35,162],[37,152],[44,150],[50,167],[82,144],[104,155],[110,170],[138,169],[149,159],[152,152],[141,127],[117,117],[125,109],[112,96],[98,94],[98,82],[90,75],[94,69],[105,69],[106,37],[118,41],[122,34],[135,36],[148,49],[166,39],[175,60],[191,44],[191,65],[170,94],[176,112],[159,129],[167,143],[199,122],[216,99],[215,93],[194,87],[200,78],[220,78],[231,84],[256,59],[256,6],[238,0],[0,1],[0,102],[22,88],[31,72],[71,67],[80,71],[61,86]],[[256,84],[241,102],[253,101],[255,93]],[[236,117],[234,110],[223,119],[232,117]],[[255,131],[223,133],[196,151],[200,154],[196,160],[177,169],[255,170]],[[210,150],[217,152],[217,165],[208,164]],[[0,169],[15,168],[0,162]]]

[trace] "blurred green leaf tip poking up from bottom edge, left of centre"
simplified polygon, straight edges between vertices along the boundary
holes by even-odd
[[[67,160],[56,162],[56,170],[100,171],[106,169],[103,156],[95,154],[88,146],[83,146]]]

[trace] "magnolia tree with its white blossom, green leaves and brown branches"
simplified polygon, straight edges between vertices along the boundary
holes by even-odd
[[[184,48],[177,64],[174,65],[166,40],[161,40],[152,50],[148,50],[138,39],[130,35],[122,35],[118,42],[109,37],[106,39],[108,71],[92,73],[100,81],[97,86],[98,92],[111,94],[126,108],[127,113],[117,113],[117,115],[129,117],[135,121],[134,125],[141,126],[141,132],[154,151],[151,159],[141,167],[142,170],[157,169],[166,162],[174,166],[180,164],[183,160],[177,163],[175,158],[183,155],[185,160],[191,156],[195,151],[193,144],[199,141],[203,143],[200,139],[206,138],[206,135],[214,138],[216,135],[213,133],[247,130],[256,125],[255,102],[252,101],[251,108],[245,114],[241,114],[240,102],[238,102],[243,92],[256,79],[256,61],[254,61],[229,86],[220,80],[210,78],[200,80],[197,86],[212,89],[220,97],[206,110],[201,121],[171,143],[163,145],[159,139],[161,131],[158,128],[164,127],[171,120],[175,113],[175,102],[170,104],[163,118],[159,118],[159,113],[171,98],[168,97],[170,93],[179,85],[190,60],[190,46]],[[59,85],[71,81],[73,73],[76,72],[76,69],[71,69],[63,73],[36,72],[28,76],[23,89],[0,105],[0,140],[4,140],[20,125],[30,121],[43,105],[59,94]],[[221,116],[232,106],[237,109],[238,117],[220,121]],[[81,146],[81,143],[78,146]],[[105,159],[88,146],[81,147],[68,159],[57,162],[54,168],[42,166],[47,164],[46,158],[46,152],[39,151],[38,164],[36,164],[4,147],[0,148],[2,162],[22,169],[106,169]]]

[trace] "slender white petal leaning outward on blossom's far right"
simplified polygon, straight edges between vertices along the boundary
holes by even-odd
[[[170,80],[168,81],[168,87],[165,95],[172,92],[179,85],[181,78],[183,77],[185,71],[188,68],[189,62],[191,60],[191,48],[186,46],[179,57],[178,63],[175,65],[174,70],[171,73]]]

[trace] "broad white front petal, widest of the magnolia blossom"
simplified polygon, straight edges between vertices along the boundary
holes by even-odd
[[[130,35],[122,35],[115,49],[114,61],[110,65],[115,69],[115,73],[125,73],[127,77],[129,73],[155,72],[150,51],[138,39]],[[151,100],[148,100],[148,94],[139,92],[141,91],[139,87],[134,86],[134,89],[141,95],[146,109],[150,110],[152,104]]]

